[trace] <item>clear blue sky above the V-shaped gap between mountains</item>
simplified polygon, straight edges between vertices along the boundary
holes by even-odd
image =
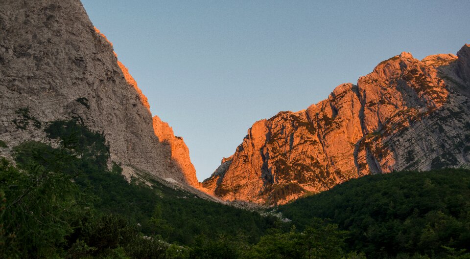
[[[184,137],[199,181],[282,110],[356,83],[402,51],[470,43],[470,1],[82,0],[148,97]]]

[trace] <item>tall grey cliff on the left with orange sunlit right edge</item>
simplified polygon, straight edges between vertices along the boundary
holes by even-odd
[[[45,140],[45,122],[79,118],[104,133],[111,160],[127,177],[145,172],[205,195],[194,189],[202,187],[183,139],[152,118],[147,98],[79,0],[2,0],[0,75],[0,139],[9,147]]]

